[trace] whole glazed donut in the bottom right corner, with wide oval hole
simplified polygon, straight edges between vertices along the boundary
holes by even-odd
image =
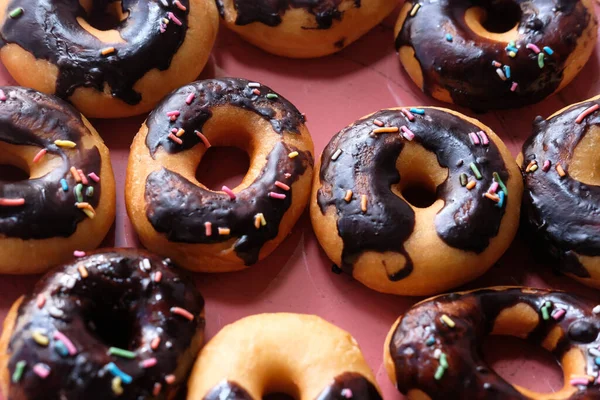
[[[523,287],[433,297],[394,323],[384,364],[409,399],[597,399],[598,309],[564,292]],[[562,367],[562,389],[536,393],[502,379],[483,358],[489,335],[515,336],[551,352]]]

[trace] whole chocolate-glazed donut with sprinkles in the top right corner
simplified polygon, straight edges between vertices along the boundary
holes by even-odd
[[[597,30],[593,0],[412,0],[394,35],[423,92],[484,111],[564,88],[590,58]]]

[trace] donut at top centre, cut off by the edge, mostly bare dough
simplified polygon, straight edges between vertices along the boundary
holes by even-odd
[[[284,57],[340,51],[379,24],[395,0],[216,0],[225,25],[244,40]]]

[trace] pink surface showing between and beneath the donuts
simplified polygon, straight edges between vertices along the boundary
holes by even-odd
[[[600,14],[600,6],[596,5],[596,8]],[[380,108],[444,106],[418,91],[402,71],[393,48],[392,29],[396,15],[394,13],[342,52],[317,60],[298,61],[272,56],[222,29],[203,77],[244,77],[260,81],[288,98],[307,114],[307,125],[319,155],[341,128]],[[535,116],[548,116],[565,105],[600,93],[599,64],[600,56],[596,51],[573,83],[540,104],[483,115],[466,109],[459,111],[489,125],[516,156],[531,131],[531,121]],[[0,83],[14,84],[3,67],[0,67]],[[142,116],[93,121],[112,151],[118,190],[117,219],[105,241],[106,246],[138,246],[125,211],[123,192],[129,144],[143,119]],[[219,156],[218,152],[210,158],[209,165],[205,167],[203,163],[202,176],[211,170],[210,166],[221,171],[224,164],[229,165],[232,161]],[[243,173],[244,162],[235,163],[232,173]],[[222,176],[214,175],[205,178],[212,187],[216,187],[222,179]],[[497,265],[469,284],[468,288],[490,285],[552,287],[600,302],[598,292],[556,276],[537,264],[527,243],[526,237],[517,237]],[[12,302],[30,291],[36,279],[33,276],[0,278],[2,319]],[[363,287],[349,276],[333,274],[331,262],[319,247],[307,213],[292,234],[264,262],[238,273],[198,274],[197,283],[206,299],[209,338],[225,324],[250,314],[277,311],[317,314],[354,335],[377,375],[384,398],[401,398],[383,367],[383,342],[394,320],[418,299],[382,295]],[[514,341],[494,340],[486,348],[490,353],[488,360],[493,361],[496,370],[511,382],[539,391],[551,391],[560,385],[556,367],[550,365],[548,357],[540,358],[537,352],[523,350]],[[512,359],[507,360],[507,355]]]

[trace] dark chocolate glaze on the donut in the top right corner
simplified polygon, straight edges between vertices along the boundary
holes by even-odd
[[[511,58],[506,43],[478,36],[465,22],[465,12],[475,6],[484,8],[491,18],[517,4],[519,50]],[[414,17],[408,16],[398,37],[396,49],[412,47],[423,72],[423,91],[429,95],[440,86],[454,103],[476,110],[517,108],[541,101],[552,94],[563,79],[565,62],[582,38],[593,17],[579,0],[424,0]],[[593,31],[593,29],[592,29]],[[445,39],[452,35],[451,42]],[[550,47],[544,67],[528,43]],[[503,81],[492,66],[498,61],[511,69]],[[514,80],[513,80],[514,79]],[[512,82],[518,89],[511,91]]]

